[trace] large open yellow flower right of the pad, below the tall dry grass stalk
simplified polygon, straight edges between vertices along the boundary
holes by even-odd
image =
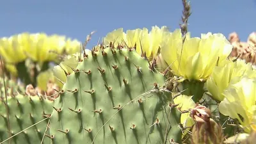
[[[186,36],[182,47],[182,34],[176,29],[161,46],[161,54],[172,72],[190,80],[206,80],[218,61],[225,60],[232,45],[222,34],[202,34],[201,38]]]

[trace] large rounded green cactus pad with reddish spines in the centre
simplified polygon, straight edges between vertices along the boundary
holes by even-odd
[[[52,143],[180,143],[181,113],[147,60],[129,49],[83,55],[54,102]]]

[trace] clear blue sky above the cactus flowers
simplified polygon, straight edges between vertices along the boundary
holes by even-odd
[[[256,0],[191,0],[189,31],[228,34],[247,40],[256,31]],[[1,1],[0,36],[28,31],[59,34],[80,41],[96,31],[88,48],[113,29],[168,26],[179,28],[181,0],[8,0]]]

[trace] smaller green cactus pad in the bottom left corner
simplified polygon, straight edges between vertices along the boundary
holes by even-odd
[[[7,144],[9,140],[13,144],[41,143],[49,115],[52,113],[53,102],[37,96],[16,95],[7,97],[7,103],[8,115],[6,99],[0,101],[0,143]],[[7,140],[8,138],[10,139]],[[44,140],[44,143],[50,143],[49,139]]]

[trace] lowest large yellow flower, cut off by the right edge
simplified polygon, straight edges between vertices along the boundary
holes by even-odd
[[[237,118],[244,131],[256,131],[256,79],[244,76],[237,83],[230,83],[223,95],[220,113]]]

